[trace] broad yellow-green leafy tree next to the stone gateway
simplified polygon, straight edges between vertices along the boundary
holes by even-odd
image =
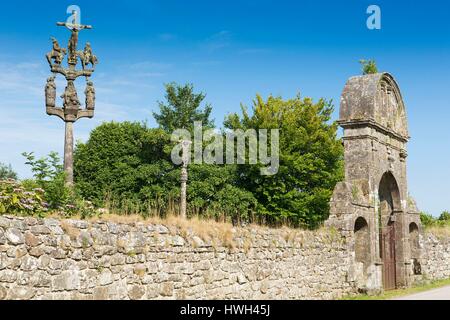
[[[250,115],[231,114],[230,129],[279,129],[280,167],[273,176],[261,176],[259,165],[238,167],[242,188],[258,201],[258,214],[269,223],[288,222],[314,228],[329,214],[329,199],[343,178],[343,148],[337,139],[337,124],[329,123],[333,105],[313,103],[300,96],[290,100],[257,95]]]

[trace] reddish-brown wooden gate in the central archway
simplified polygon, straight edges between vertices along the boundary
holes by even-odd
[[[385,290],[396,288],[395,225],[389,223],[381,234],[381,257],[383,259],[383,286]]]

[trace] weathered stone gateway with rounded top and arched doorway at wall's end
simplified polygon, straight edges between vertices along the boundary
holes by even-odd
[[[420,273],[421,224],[408,197],[408,124],[394,78],[388,73],[350,78],[339,124],[345,181],[336,185],[327,225],[354,246],[352,274],[360,289],[408,286]]]

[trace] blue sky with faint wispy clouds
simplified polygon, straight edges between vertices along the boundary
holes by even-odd
[[[206,92],[218,126],[256,93],[333,99],[336,119],[346,80],[360,73],[358,60],[374,58],[396,77],[407,106],[410,193],[422,210],[450,210],[448,1],[2,3],[0,162],[21,177],[30,176],[23,151],[63,153],[63,123],[44,109],[44,55],[50,36],[66,46],[69,32],[55,22],[67,19],[70,4],[81,7],[82,23],[94,26],[80,33],[80,42],[90,41],[100,59],[92,78],[96,116],[76,123],[76,139],[86,140],[103,121],[155,125],[152,111],[171,81]],[[366,28],[371,4],[381,7],[381,30]]]

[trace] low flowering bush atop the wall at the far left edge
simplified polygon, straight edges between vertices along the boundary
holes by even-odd
[[[12,179],[0,181],[0,214],[43,216],[47,211],[43,189],[30,188]]]

